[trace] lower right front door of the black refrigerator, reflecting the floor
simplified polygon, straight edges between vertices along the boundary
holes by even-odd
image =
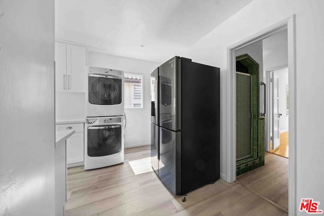
[[[160,127],[158,176],[175,195],[181,194],[181,132]]]

